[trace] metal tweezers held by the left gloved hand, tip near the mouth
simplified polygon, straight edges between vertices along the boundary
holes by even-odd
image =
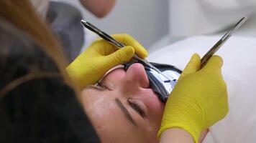
[[[87,29],[89,29],[89,30],[93,31],[94,33],[98,34],[102,39],[105,39],[106,41],[109,41],[109,43],[114,44],[115,46],[118,46],[120,48],[125,46],[124,44],[122,44],[119,41],[116,41],[114,38],[112,38],[109,34],[106,34],[104,31],[101,31],[96,26],[93,26],[93,24],[89,23],[88,21],[81,20],[81,24],[83,24],[83,26],[85,26]],[[136,54],[134,54],[133,59],[139,61],[142,64],[150,66],[150,68],[155,69],[155,71],[157,71],[159,74],[162,74],[163,77],[167,78],[168,80],[171,80],[168,76],[163,74],[159,69],[157,69],[155,66],[150,64],[150,62],[147,61],[146,59],[142,59],[139,56],[137,56]]]

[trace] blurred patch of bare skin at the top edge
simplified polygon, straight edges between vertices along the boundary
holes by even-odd
[[[97,17],[104,17],[113,9],[116,0],[80,0],[81,4]]]

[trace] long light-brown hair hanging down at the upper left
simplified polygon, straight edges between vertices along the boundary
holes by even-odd
[[[65,81],[68,84],[72,83],[65,72],[68,62],[63,56],[55,34],[50,30],[50,26],[40,19],[29,0],[0,0],[0,16],[34,39],[55,61]],[[70,86],[77,91],[76,86]]]

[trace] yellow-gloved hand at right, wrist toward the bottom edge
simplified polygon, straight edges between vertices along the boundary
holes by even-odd
[[[203,129],[227,115],[227,87],[221,76],[221,57],[212,56],[203,69],[200,64],[200,56],[193,54],[165,105],[158,138],[166,129],[181,128],[198,142]]]

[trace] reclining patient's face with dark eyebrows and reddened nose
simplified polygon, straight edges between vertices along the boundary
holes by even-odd
[[[114,69],[82,92],[83,107],[102,142],[157,142],[164,104],[142,64]]]

